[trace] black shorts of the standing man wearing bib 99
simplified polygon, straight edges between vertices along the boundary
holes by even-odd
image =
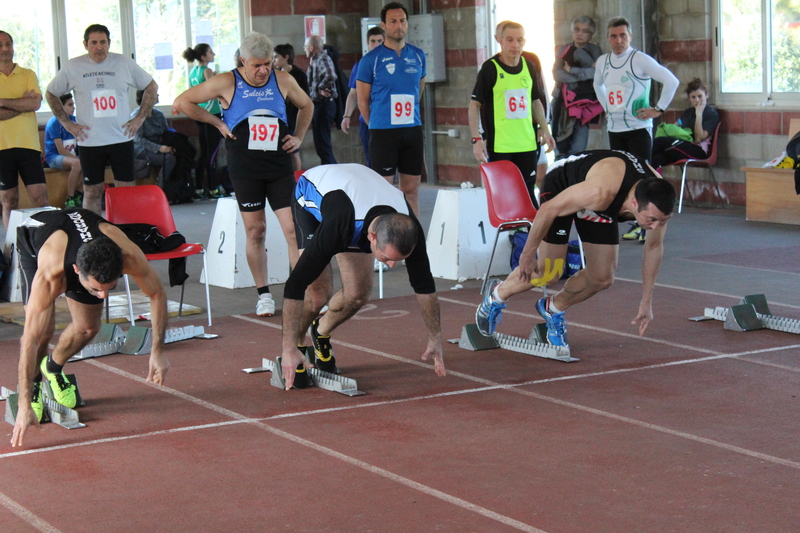
[[[369,160],[381,176],[419,176],[423,162],[422,126],[369,130]]]

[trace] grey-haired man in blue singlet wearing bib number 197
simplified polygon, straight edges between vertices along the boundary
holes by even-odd
[[[266,35],[251,33],[240,47],[244,66],[192,87],[173,104],[176,111],[216,126],[225,138],[228,171],[247,235],[247,264],[258,291],[259,316],[275,314],[267,277],[264,208],[269,201],[294,266],[297,244],[289,209],[295,183],[291,154],[300,149],[313,114],[311,100],[294,78],[272,68],[272,52],[272,41]],[[222,104],[222,119],[197,105],[213,98]],[[299,110],[294,134],[288,132],[287,102]]]

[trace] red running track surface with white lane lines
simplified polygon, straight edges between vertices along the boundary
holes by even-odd
[[[4,425],[0,531],[800,531],[800,337],[689,322],[737,300],[659,287],[639,338],[639,295],[569,310],[578,363],[447,344],[445,378],[419,362],[415,299],[373,302],[334,334],[356,398],[241,371],[277,355],[279,318],[170,345],[162,389],[146,357],[72,364],[87,427],[19,450]],[[477,291],[440,296],[458,337]],[[527,336],[536,297],[499,330]],[[0,344],[7,387],[18,350]]]

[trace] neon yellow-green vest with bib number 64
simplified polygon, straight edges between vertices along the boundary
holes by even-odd
[[[494,103],[494,152],[512,154],[536,150],[533,129],[533,78],[524,57],[519,74],[509,74],[492,59],[497,69],[497,81],[492,89]]]

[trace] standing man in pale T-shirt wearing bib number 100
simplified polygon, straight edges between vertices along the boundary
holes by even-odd
[[[100,213],[105,167],[111,165],[116,186],[134,184],[133,136],[158,96],[158,84],[133,59],[110,53],[108,28],[92,24],[83,36],[86,55],[70,59],[47,86],[47,103],[68,132],[75,136],[84,172],[83,206]],[[131,88],[144,90],[139,114],[131,116]],[[77,123],[58,97],[73,91]]]

